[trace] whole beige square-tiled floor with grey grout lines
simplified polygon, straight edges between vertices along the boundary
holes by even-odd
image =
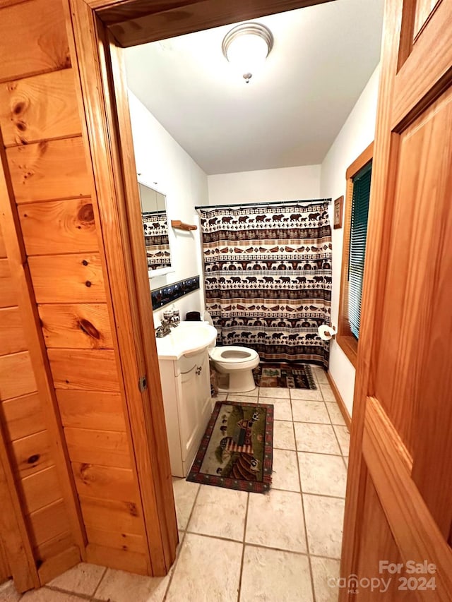
[[[335,602],[349,435],[325,373],[317,390],[263,388],[230,394],[275,407],[268,495],[174,479],[180,544],[167,577],[81,564],[0,602]],[[222,395],[219,399],[226,399]]]

